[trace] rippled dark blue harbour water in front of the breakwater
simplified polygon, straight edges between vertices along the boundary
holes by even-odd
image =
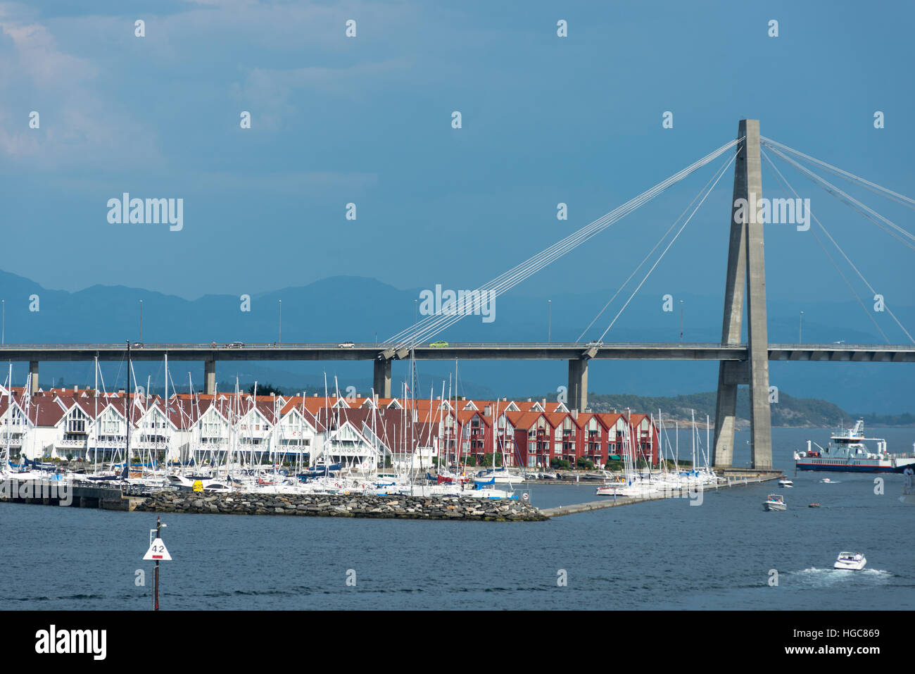
[[[790,447],[792,436],[803,432],[775,429],[776,447]],[[777,454],[783,465],[790,460],[790,451]],[[739,609],[750,603],[773,610],[814,603],[855,610],[875,602],[911,610],[908,550],[886,542],[889,531],[910,526],[911,508],[897,500],[901,476],[887,481],[888,495],[881,497],[866,475],[834,486],[801,475],[795,490],[805,504],[823,507],[795,508],[797,517],[761,511],[769,482],[706,492],[700,507],[688,498],[659,499],[532,523],[160,513],[175,560],[167,562],[162,608],[558,609],[572,601],[580,608],[619,610]],[[593,485],[524,488],[547,513],[594,501]],[[607,500],[612,498],[599,503]],[[34,549],[72,550],[67,558],[36,559],[15,546],[0,549],[5,605],[150,608],[149,585],[135,587],[133,580],[156,513],[12,503],[0,504],[0,511],[5,535],[27,536]],[[849,529],[853,516],[861,526]],[[86,537],[92,546],[81,545]],[[759,546],[760,539],[780,543]],[[865,551],[866,570],[834,570],[840,549]],[[221,560],[218,572],[212,560]],[[633,568],[639,570],[635,580],[626,571]],[[780,571],[778,588],[767,585],[773,568]],[[358,573],[356,589],[343,582],[347,569]],[[556,586],[561,569],[568,573],[565,588]],[[684,569],[703,571],[689,571],[687,582]]]

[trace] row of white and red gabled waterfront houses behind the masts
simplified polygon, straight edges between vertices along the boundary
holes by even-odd
[[[516,468],[560,460],[619,460],[626,427],[634,460],[658,461],[651,415],[579,413],[541,400],[404,400],[391,397],[171,394],[51,388],[28,395],[0,387],[0,449],[38,460],[256,462],[430,468],[482,465],[495,452]],[[129,429],[129,433],[128,433]]]

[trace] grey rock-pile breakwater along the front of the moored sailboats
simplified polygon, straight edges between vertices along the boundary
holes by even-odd
[[[158,513],[396,517],[496,522],[538,522],[547,519],[539,509],[524,501],[458,496],[194,494],[164,491],[146,497],[132,509]]]

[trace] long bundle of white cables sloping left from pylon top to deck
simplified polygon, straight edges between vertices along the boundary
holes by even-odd
[[[506,290],[521,283],[522,280],[533,276],[533,274],[544,268],[544,266],[575,249],[578,245],[581,245],[611,224],[616,223],[619,219],[636,210],[645,202],[656,197],[663,190],[666,190],[674,183],[679,182],[692,174],[696,169],[702,168],[711,161],[714,161],[728,149],[737,145],[741,140],[742,138],[737,138],[726,145],[717,148],[704,158],[697,160],[692,165],[673,174],[670,178],[658,183],[650,190],[642,192],[639,196],[627,201],[614,211],[607,213],[592,223],[588,223],[575,233],[566,236],[556,244],[549,246],[540,253],[525,260],[520,265],[512,267],[510,270],[501,274],[501,276],[492,279],[477,290],[472,291],[470,293],[471,299],[462,307],[463,311],[456,310],[455,313],[428,316],[422,321],[417,321],[413,326],[398,332],[383,343],[389,347],[400,349],[409,346],[413,342],[431,339],[438,332],[447,329],[447,327],[464,318],[464,316],[479,310],[482,307],[483,298],[487,295],[490,296],[490,298],[497,297]],[[458,308],[456,307],[456,309]]]

